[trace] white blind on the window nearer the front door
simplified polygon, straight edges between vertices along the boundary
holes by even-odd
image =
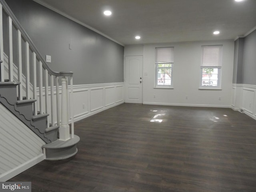
[[[156,48],[156,63],[174,63],[174,47]]]

